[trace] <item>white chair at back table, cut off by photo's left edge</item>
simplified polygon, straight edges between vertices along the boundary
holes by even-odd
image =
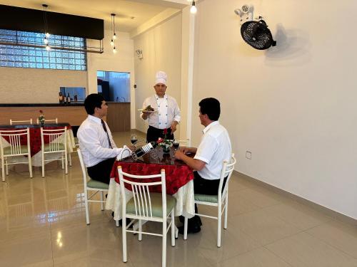
[[[21,137],[26,136],[27,145],[21,145]],[[9,140],[9,144],[6,142]],[[31,153],[30,153],[30,129],[23,130],[0,130],[0,155],[1,155],[1,175],[2,181],[5,181],[6,175],[9,175],[10,164],[29,164],[30,177],[32,178]],[[9,157],[27,156],[25,162],[8,162]],[[25,157],[24,157],[25,159]]]

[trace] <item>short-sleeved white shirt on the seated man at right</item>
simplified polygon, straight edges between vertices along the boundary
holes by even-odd
[[[226,128],[220,125],[218,120],[211,122],[203,129],[201,143],[194,157],[206,162],[198,174],[208,180],[219,179],[223,161],[229,162],[231,153],[231,140]]]

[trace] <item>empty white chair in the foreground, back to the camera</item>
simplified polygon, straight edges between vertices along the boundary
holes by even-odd
[[[118,167],[119,181],[121,187],[121,212],[122,212],[122,231],[123,231],[123,261],[127,261],[126,253],[126,232],[139,234],[139,241],[142,239],[142,234],[152,236],[162,236],[162,267],[166,266],[166,235],[171,227],[171,246],[175,246],[175,206],[176,199],[166,194],[165,170],[161,169],[161,174],[154,175],[134,175],[123,172],[121,166]],[[125,177],[125,178],[124,178]],[[149,179],[160,178],[158,182],[132,182],[126,179]],[[133,192],[131,199],[126,199],[124,184],[128,184]],[[149,192],[149,187],[153,185],[161,185],[161,193]],[[126,218],[131,219],[131,223],[126,226]],[[171,218],[171,219],[170,219]],[[128,230],[129,226],[134,223],[134,220],[139,220],[139,229]],[[142,230],[142,221],[158,221],[162,223],[162,234],[144,232]],[[169,227],[167,223],[169,222]]]

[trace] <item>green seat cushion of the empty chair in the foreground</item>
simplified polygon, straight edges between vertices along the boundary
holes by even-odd
[[[162,194],[150,193],[151,207],[154,217],[162,217]],[[145,203],[145,200],[144,200]],[[166,216],[170,214],[170,211],[176,206],[176,199],[169,194],[166,194]],[[148,203],[149,207],[149,203]],[[134,198],[131,198],[126,204],[126,213],[135,214]]]

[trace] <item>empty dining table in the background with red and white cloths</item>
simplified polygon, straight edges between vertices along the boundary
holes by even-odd
[[[67,127],[67,150],[68,152],[73,152],[76,147],[76,143],[74,142],[74,134],[71,128],[71,125],[67,122],[61,122],[56,124],[45,124],[45,125],[0,125],[0,130],[21,130],[29,128],[30,134],[30,154],[31,154],[31,163],[32,166],[39,167],[41,166],[41,127],[46,130],[56,130],[59,128]],[[4,146],[9,146],[9,140],[1,137],[1,142],[3,142]],[[25,136],[21,137],[21,145],[27,145],[27,139]],[[48,138],[44,138],[45,143],[49,143]],[[50,157],[56,158],[56,155],[48,155],[46,159],[50,159]],[[8,159],[11,162],[21,162],[23,159],[19,157],[9,157]]]

